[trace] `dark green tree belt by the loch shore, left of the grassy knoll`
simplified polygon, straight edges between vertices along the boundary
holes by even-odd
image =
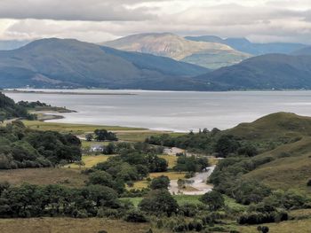
[[[209,154],[215,153],[223,158],[236,155],[253,157],[258,154],[256,147],[251,143],[235,136],[220,134],[219,132],[219,129],[214,128],[211,132],[203,129],[203,131],[196,134],[190,132],[187,135],[177,137],[163,134],[148,137],[146,143],[169,147],[176,146],[190,151]]]

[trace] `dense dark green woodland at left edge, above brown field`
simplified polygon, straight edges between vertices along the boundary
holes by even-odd
[[[79,161],[80,147],[76,136],[33,130],[15,120],[0,127],[0,169],[52,167]]]

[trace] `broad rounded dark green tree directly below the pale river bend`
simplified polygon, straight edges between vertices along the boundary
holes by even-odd
[[[177,213],[179,205],[168,190],[151,190],[139,207],[149,214],[167,214],[170,217],[172,213]]]

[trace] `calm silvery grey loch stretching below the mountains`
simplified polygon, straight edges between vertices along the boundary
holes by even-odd
[[[52,90],[48,90],[52,91]],[[55,90],[53,90],[55,91]],[[65,91],[65,90],[62,90]],[[144,90],[68,90],[70,92],[133,93],[131,96],[7,94],[15,101],[40,100],[66,106],[60,122],[170,129],[231,128],[268,113],[311,116],[311,91],[176,92]]]

